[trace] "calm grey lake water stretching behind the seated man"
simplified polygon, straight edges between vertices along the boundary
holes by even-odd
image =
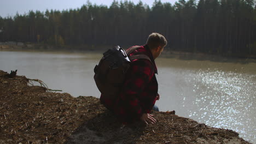
[[[94,67],[102,57],[94,52],[0,51],[0,69],[40,79],[51,89],[74,97],[99,98]],[[159,57],[160,111],[176,111],[212,127],[232,129],[256,143],[256,63],[227,58],[214,61]]]

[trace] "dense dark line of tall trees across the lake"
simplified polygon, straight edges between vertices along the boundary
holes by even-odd
[[[168,49],[189,52],[256,55],[254,0],[113,1],[110,7],[29,11],[0,17],[0,41],[55,45],[141,45],[159,32]],[[96,48],[95,48],[96,49]]]

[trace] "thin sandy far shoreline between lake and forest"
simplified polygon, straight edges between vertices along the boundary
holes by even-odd
[[[54,46],[49,44],[32,44],[32,43],[20,43],[20,42],[0,42],[0,51],[24,51],[24,50],[36,50],[36,51],[94,51],[104,52],[114,45],[63,45]],[[124,49],[128,49],[130,46],[121,46]],[[175,51],[165,49],[161,56],[164,57],[176,57],[182,59],[199,59],[199,60],[211,60],[216,58],[232,58],[232,59],[256,59],[256,56],[246,55],[219,55],[217,53],[203,53],[203,52],[186,52]]]

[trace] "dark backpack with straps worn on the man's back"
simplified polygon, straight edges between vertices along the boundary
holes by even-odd
[[[103,53],[100,63],[94,68],[94,80],[98,89],[105,97],[114,98],[118,95],[131,61],[144,58],[151,62],[147,55],[139,52],[128,57],[138,47],[140,46],[131,47],[125,51],[119,46],[115,46]]]

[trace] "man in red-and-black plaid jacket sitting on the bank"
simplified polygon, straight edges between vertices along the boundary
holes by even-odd
[[[139,46],[129,55],[142,53],[150,60],[139,58],[131,61],[131,67],[126,72],[124,85],[117,99],[109,99],[101,95],[101,103],[121,121],[130,123],[140,119],[146,124],[156,122],[153,115],[149,114],[155,101],[160,97],[155,77],[155,74],[158,74],[155,59],[159,57],[166,45],[167,41],[163,35],[150,34],[146,45]]]

